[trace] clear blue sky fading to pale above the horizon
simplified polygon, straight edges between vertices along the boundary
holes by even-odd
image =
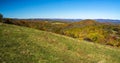
[[[0,0],[5,18],[120,19],[120,0]]]

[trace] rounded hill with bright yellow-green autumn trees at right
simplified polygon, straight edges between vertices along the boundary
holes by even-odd
[[[62,32],[80,40],[120,47],[120,25],[87,19],[70,23]]]

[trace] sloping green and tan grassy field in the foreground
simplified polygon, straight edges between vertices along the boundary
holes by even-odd
[[[120,49],[0,23],[0,63],[119,63]]]

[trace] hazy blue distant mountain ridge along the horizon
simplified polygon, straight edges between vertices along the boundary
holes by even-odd
[[[16,19],[16,18],[15,18]],[[16,19],[19,20],[19,19]],[[30,18],[30,19],[20,19],[20,20],[36,20],[36,21],[65,21],[65,22],[78,22],[81,20],[86,20],[86,19],[57,19],[57,18]],[[115,23],[115,24],[120,24],[120,20],[115,20],[115,19],[91,19],[91,20],[95,20],[98,22],[108,22],[108,23]]]

